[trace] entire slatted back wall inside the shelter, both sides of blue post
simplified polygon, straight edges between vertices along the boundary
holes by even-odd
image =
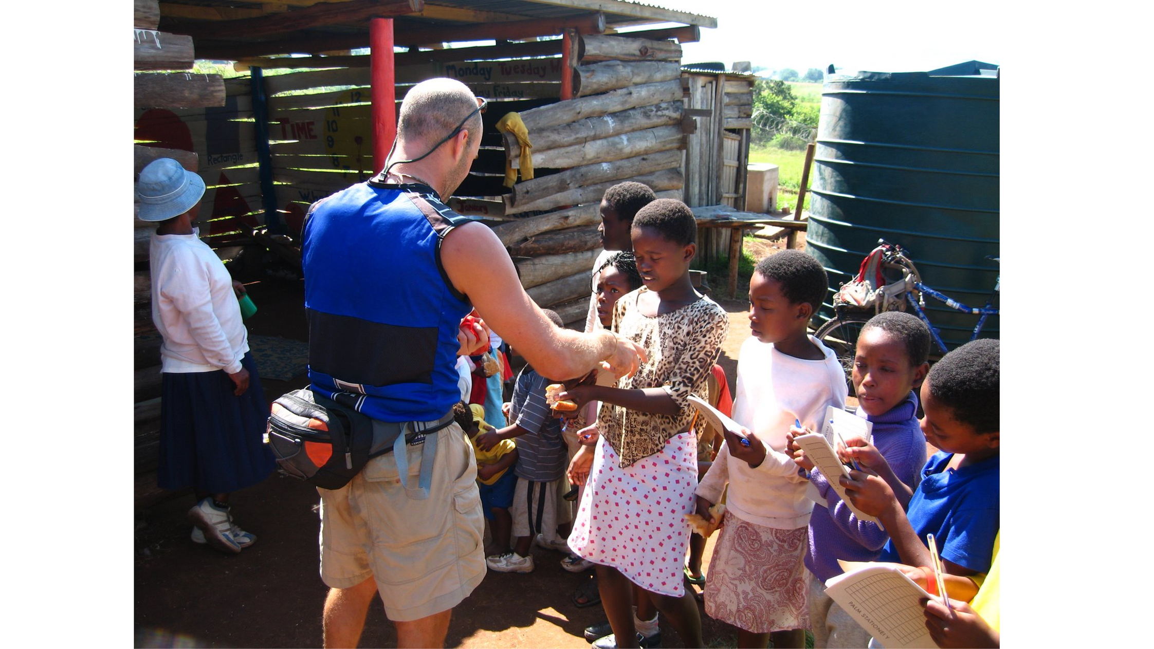
[[[556,40],[397,55],[398,107],[412,85],[435,76],[458,78],[490,101],[492,107],[482,115],[480,158],[458,194],[499,199],[505,190],[501,183],[505,156],[494,123],[505,112],[525,111],[560,97],[560,50],[561,41]],[[537,58],[494,60],[510,55]],[[292,236],[299,235],[310,203],[366,180],[374,168],[368,56],[314,59],[313,66],[332,59],[343,67],[264,76],[276,204],[279,220]],[[247,61],[250,66],[261,62]],[[156,96],[153,89],[160,84],[140,76],[137,96]],[[204,83],[204,75],[165,76],[192,76],[194,82]],[[222,85],[219,77],[216,81]],[[260,175],[249,167],[256,163],[257,144],[250,121],[250,78],[230,78],[217,92],[225,98],[223,107],[200,108],[195,106],[204,104],[180,99],[170,101],[166,108],[138,107],[135,115],[137,139],[198,154],[198,171],[208,188],[202,221],[208,226],[207,241],[215,248],[227,246],[246,228],[264,222]],[[179,96],[173,91],[168,95]],[[189,107],[171,107],[178,105]],[[500,218],[501,210],[486,209],[485,216]]]

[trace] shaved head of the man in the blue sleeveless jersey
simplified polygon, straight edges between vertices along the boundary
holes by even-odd
[[[400,103],[397,136],[411,144],[433,144],[475,110],[477,97],[464,83],[452,78],[422,81]],[[473,114],[463,128],[469,130],[469,144],[472,145],[481,136],[481,114]]]

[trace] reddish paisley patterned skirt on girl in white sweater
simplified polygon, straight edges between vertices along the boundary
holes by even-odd
[[[750,633],[809,628],[808,528],[774,529],[725,513],[705,580],[705,612]]]

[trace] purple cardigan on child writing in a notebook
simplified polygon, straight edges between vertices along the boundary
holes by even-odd
[[[917,425],[916,414],[917,397],[913,392],[878,417],[857,409],[859,417],[874,422],[874,445],[898,480],[911,489],[917,485],[919,471],[926,465],[926,436]],[[841,574],[838,559],[877,560],[890,535],[877,523],[859,521],[820,470],[810,471],[809,480],[826,503],[826,507],[815,506],[809,519],[809,552],[805,554],[809,572],[824,582]]]

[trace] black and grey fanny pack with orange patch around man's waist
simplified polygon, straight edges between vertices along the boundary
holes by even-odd
[[[407,480],[405,445],[424,440],[419,486],[427,498],[436,453],[436,436],[429,433],[452,423],[452,412],[436,422],[382,422],[352,407],[359,394],[338,392],[334,397],[327,399],[305,387],[272,402],[264,443],[280,468],[314,486],[340,489],[370,459],[397,452],[397,469]]]

